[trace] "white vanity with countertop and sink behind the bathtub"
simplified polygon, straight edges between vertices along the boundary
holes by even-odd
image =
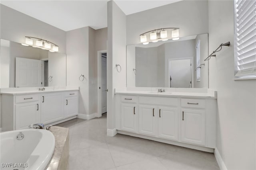
[[[78,115],[79,87],[1,89],[2,131],[28,128],[33,123],[55,125]]]

